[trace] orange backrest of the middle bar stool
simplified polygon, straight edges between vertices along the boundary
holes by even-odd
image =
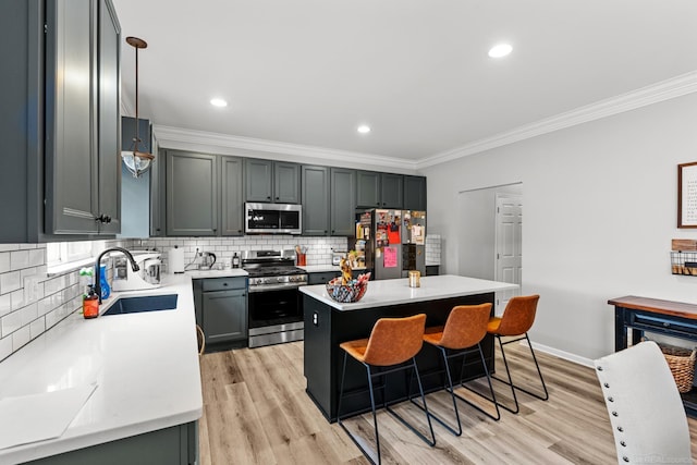
[[[491,304],[458,305],[450,310],[439,345],[466,348],[476,345],[487,334]]]

